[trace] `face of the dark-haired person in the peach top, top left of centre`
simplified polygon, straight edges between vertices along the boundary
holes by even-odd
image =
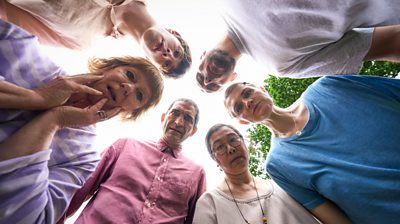
[[[174,70],[184,56],[179,40],[163,28],[152,27],[146,30],[141,45],[150,60],[166,72]]]

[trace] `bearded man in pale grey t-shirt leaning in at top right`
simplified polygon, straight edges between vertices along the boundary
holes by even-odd
[[[206,92],[236,78],[242,54],[273,75],[293,78],[357,73],[364,60],[400,61],[400,1],[221,3],[227,34],[203,55],[196,74]]]

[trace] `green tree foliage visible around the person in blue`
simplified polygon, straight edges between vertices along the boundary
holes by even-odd
[[[400,74],[400,63],[367,61],[360,74],[394,78]],[[264,81],[275,105],[285,108],[294,103],[318,78],[290,79],[269,76]],[[270,149],[271,132],[263,125],[252,125],[247,130],[250,139],[250,171],[255,176],[268,178],[264,172],[264,161]]]

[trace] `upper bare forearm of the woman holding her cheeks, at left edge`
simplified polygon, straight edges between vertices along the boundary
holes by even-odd
[[[37,94],[31,89],[26,89],[6,81],[0,81],[1,109],[43,109],[43,105],[39,105],[37,98]]]

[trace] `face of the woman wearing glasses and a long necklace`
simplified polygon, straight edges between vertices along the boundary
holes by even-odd
[[[210,137],[214,159],[227,173],[243,172],[249,164],[249,154],[243,139],[231,128],[221,127]]]

